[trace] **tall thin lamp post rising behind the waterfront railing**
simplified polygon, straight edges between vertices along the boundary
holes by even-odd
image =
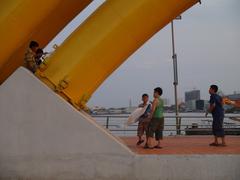
[[[181,19],[181,16],[178,16],[176,19]],[[173,60],[173,73],[174,73],[174,98],[175,98],[175,114],[176,114],[176,133],[180,134],[180,122],[179,122],[179,106],[178,106],[178,68],[177,68],[177,54],[175,52],[175,39],[174,39],[174,24],[171,22],[171,31],[172,31],[172,60]]]

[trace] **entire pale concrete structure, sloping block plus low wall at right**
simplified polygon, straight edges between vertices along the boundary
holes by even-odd
[[[0,86],[0,179],[239,177],[240,155],[133,154],[24,68]]]

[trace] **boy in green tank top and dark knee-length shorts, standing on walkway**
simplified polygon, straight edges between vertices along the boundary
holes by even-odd
[[[151,109],[151,121],[149,123],[147,131],[147,143],[144,146],[146,149],[161,149],[160,140],[163,136],[164,127],[164,116],[163,116],[163,100],[160,98],[162,95],[162,88],[157,87],[154,89],[154,100]],[[155,139],[158,142],[156,146],[153,145],[153,137],[155,134]]]

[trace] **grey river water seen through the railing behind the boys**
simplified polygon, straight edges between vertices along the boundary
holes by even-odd
[[[164,136],[176,135],[176,118],[174,118],[174,113],[165,113],[165,126],[164,126]],[[181,134],[185,134],[184,129],[186,127],[191,127],[193,123],[197,123],[199,127],[211,128],[212,117],[209,115],[207,118],[204,117],[204,113],[181,113]],[[124,123],[127,121],[126,114],[111,115],[109,117],[109,130],[117,136],[136,136],[137,133],[137,123],[134,125],[125,127]],[[226,127],[240,127],[240,122],[229,119],[228,117],[240,117],[240,114],[226,114],[224,119],[225,128]],[[107,117],[95,117],[97,123],[106,127]]]

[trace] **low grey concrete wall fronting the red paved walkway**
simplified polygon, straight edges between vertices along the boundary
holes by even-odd
[[[134,169],[138,180],[239,180],[240,155],[137,156]]]

